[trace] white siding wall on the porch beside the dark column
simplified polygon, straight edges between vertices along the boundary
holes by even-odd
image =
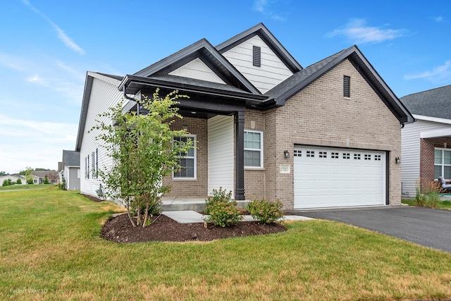
[[[234,190],[233,116],[214,116],[208,120],[209,195],[214,189]]]

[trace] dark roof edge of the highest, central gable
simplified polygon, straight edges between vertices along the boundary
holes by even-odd
[[[278,56],[278,58],[283,61],[283,63],[285,63],[288,68],[290,68],[292,73],[297,73],[299,70],[302,70],[302,66],[297,63],[295,58],[292,57],[292,55],[287,51],[287,49],[285,49],[285,47],[283,47],[282,44],[280,44],[278,39],[274,37],[274,35],[268,30],[268,28],[266,28],[263,23],[259,23],[254,27],[241,32],[240,34],[235,35],[235,37],[231,37],[225,42],[218,44],[218,46],[216,46],[216,49],[218,49],[218,51],[223,54],[224,52],[232,49],[238,44],[241,44],[247,39],[254,37],[255,35],[258,35],[268,45],[268,47],[271,48],[271,50]]]

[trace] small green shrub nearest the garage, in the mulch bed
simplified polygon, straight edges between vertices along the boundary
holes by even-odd
[[[278,219],[283,217],[282,202],[271,202],[267,199],[259,199],[247,204],[250,214],[259,223],[266,225],[267,223],[276,223]]]

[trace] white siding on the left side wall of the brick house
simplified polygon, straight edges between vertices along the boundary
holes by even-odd
[[[96,141],[99,130],[93,130],[87,133],[94,125],[97,125],[96,119],[111,123],[106,117],[99,117],[99,114],[108,111],[109,108],[116,106],[121,101],[123,95],[118,90],[119,81],[106,78],[107,81],[94,78],[92,82],[92,90],[89,98],[89,108],[87,110],[85,133],[83,133],[82,145],[80,147],[80,192],[97,196],[96,190],[99,189],[101,183],[100,178],[92,177],[92,152],[98,154],[99,169],[109,168],[111,159],[106,156],[105,149],[101,147],[101,143]],[[89,179],[85,178],[85,157],[89,155]]]

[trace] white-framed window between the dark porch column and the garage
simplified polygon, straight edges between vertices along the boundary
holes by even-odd
[[[263,168],[263,132],[245,130],[245,167]]]

